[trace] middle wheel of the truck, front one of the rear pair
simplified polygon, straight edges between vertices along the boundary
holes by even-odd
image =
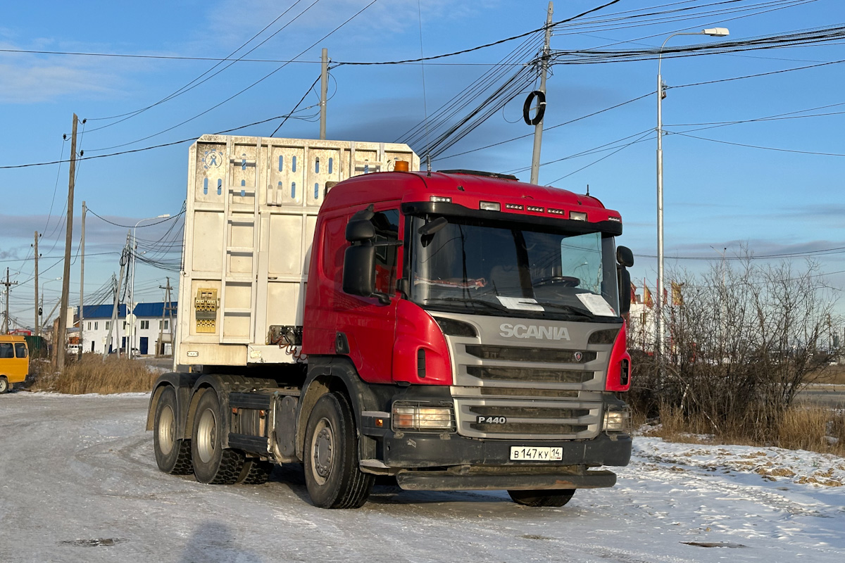
[[[222,419],[217,393],[209,389],[199,398],[191,432],[194,476],[200,483],[232,485],[241,476],[244,455],[240,450],[223,448]]]

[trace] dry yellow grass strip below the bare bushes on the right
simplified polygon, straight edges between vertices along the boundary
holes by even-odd
[[[777,446],[845,457],[845,413],[802,405],[787,409],[766,440],[756,438],[755,430],[750,427],[743,430],[741,426],[733,425],[714,430],[707,420],[690,417],[681,409],[668,405],[660,409],[660,425],[646,435],[679,443]]]

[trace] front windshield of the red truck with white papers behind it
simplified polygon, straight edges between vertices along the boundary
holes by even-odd
[[[454,217],[420,235],[418,229],[433,219],[415,217],[412,224],[411,299],[418,304],[504,317],[618,322],[613,236]]]

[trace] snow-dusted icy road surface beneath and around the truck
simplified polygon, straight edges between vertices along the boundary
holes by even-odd
[[[161,474],[147,400],[0,397],[0,561],[820,563],[845,549],[842,458],[641,438],[619,485],[563,508],[377,486],[360,510],[326,511],[296,466],[259,486]]]

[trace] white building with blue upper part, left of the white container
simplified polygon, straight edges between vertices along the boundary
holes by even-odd
[[[118,348],[127,349],[128,324],[126,322],[126,306],[121,305],[117,311],[117,327],[112,330],[112,338],[108,339],[109,329],[112,328],[113,305],[85,306],[83,317],[83,350],[102,354]],[[133,348],[140,355],[155,355],[156,349],[160,355],[172,354],[172,333],[176,322],[176,301],[170,303],[138,303],[134,307],[135,330]],[[163,313],[163,314],[162,314]],[[162,318],[163,317],[163,318]]]

